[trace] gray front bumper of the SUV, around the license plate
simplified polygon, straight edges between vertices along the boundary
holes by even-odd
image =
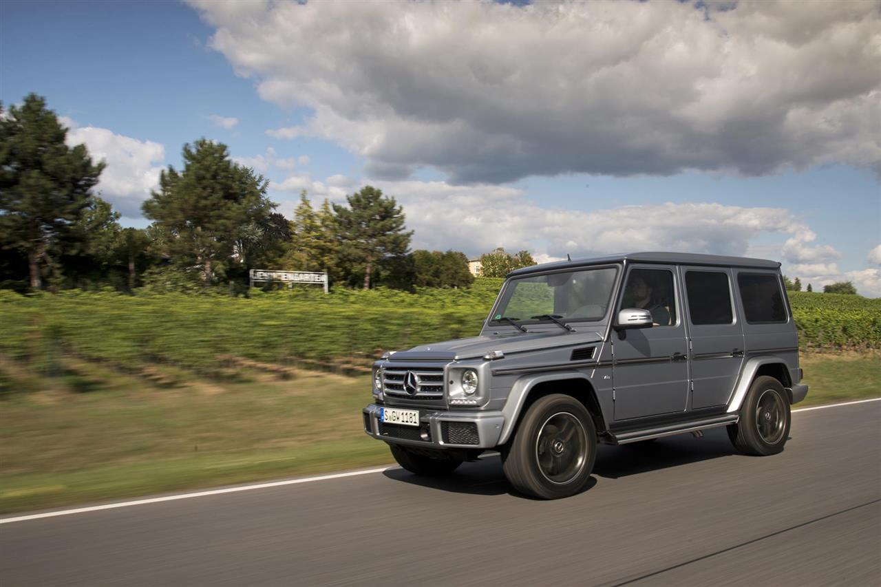
[[[380,410],[386,406],[367,405],[364,412],[364,431],[374,438],[433,449],[493,449],[499,443],[505,417],[501,412],[463,412],[437,409],[420,409],[419,422],[421,427],[397,427],[382,424],[379,421]],[[395,407],[395,406],[388,406]],[[415,409],[415,408],[406,408]],[[459,434],[464,427],[473,429],[477,434]],[[420,437],[420,430],[427,432],[427,439]],[[398,435],[397,433],[402,433]],[[462,443],[456,441],[469,441]]]

